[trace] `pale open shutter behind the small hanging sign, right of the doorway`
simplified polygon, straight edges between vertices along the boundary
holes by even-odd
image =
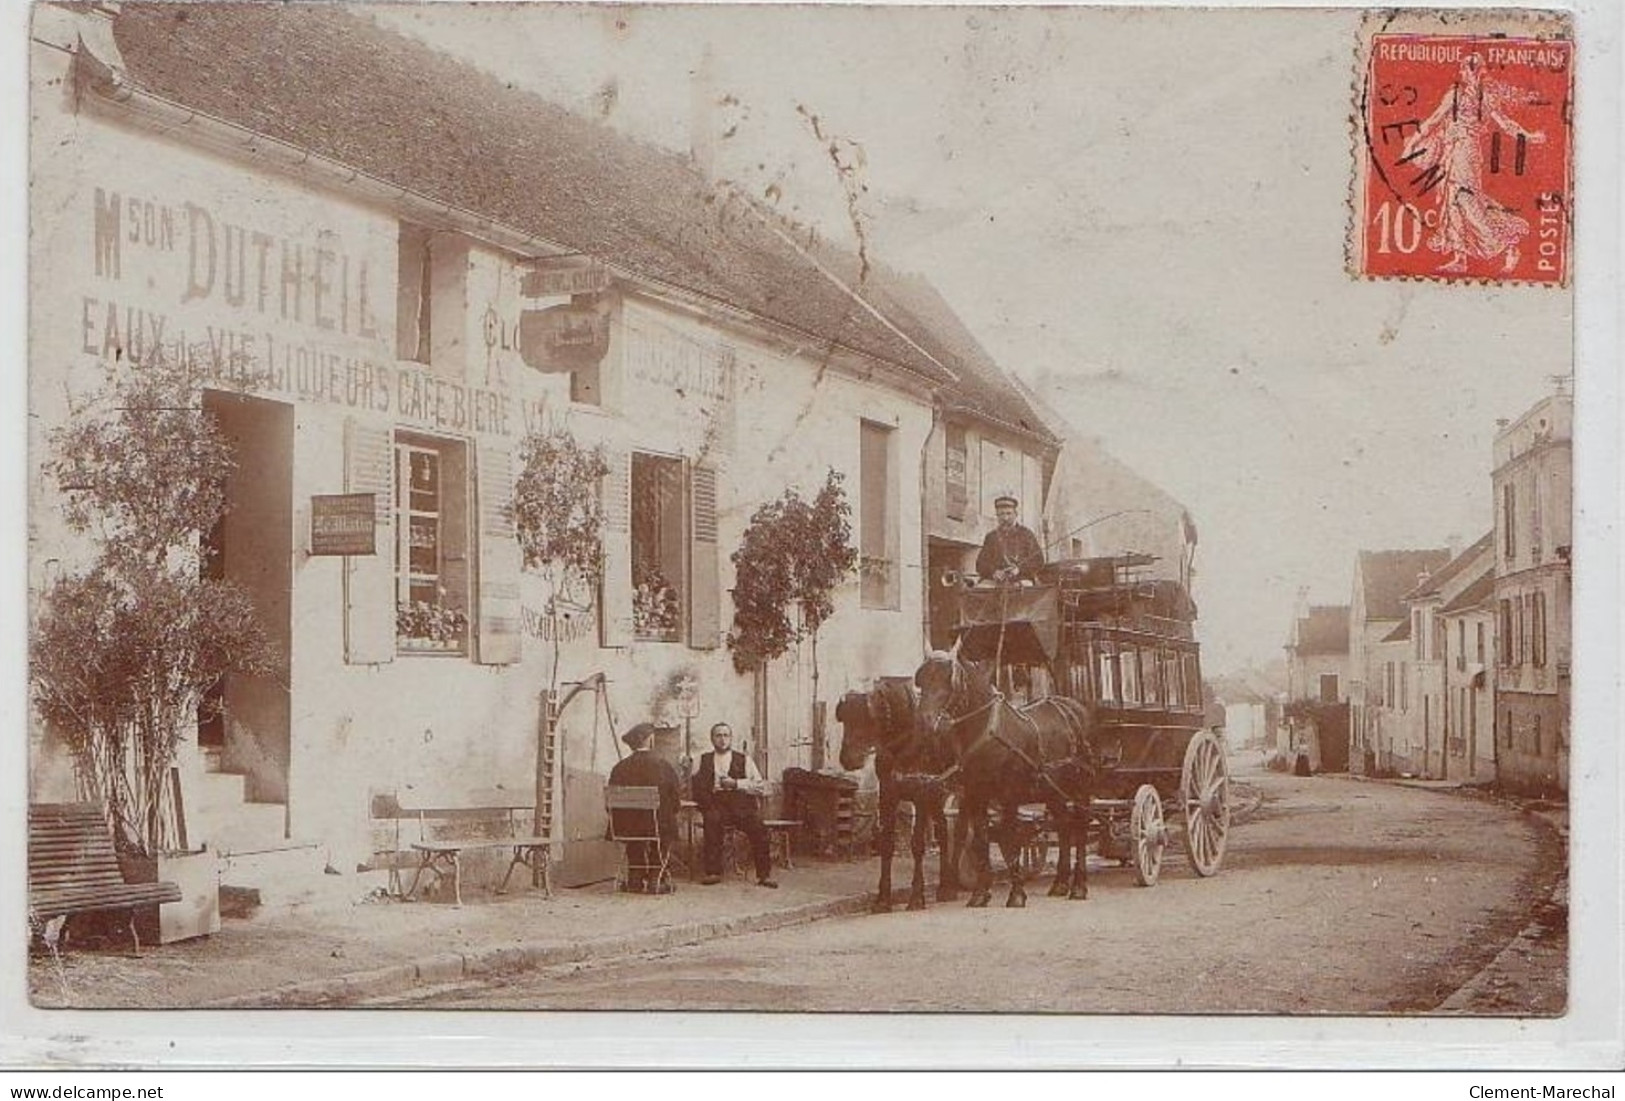
[[[344,559],[344,661],[395,661],[395,435],[344,419],[344,492],[372,494],[377,552]]]

